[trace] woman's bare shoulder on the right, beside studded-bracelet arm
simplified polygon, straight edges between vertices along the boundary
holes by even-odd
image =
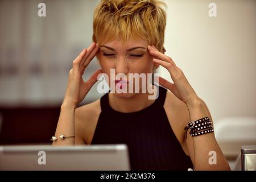
[[[188,155],[187,147],[185,146],[184,127],[189,122],[189,111],[187,105],[179,100],[174,93],[167,90],[166,101],[164,102],[164,110],[171,128],[179,140],[185,154]]]

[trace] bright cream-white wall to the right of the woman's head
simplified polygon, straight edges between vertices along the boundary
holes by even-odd
[[[208,105],[213,120],[256,117],[256,1],[165,1],[166,54]],[[217,17],[208,5],[217,5]],[[160,76],[170,74],[160,68]]]

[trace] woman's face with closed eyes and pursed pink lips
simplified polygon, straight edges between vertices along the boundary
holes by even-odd
[[[147,47],[148,42],[143,39],[129,40],[126,44],[123,44],[122,40],[115,39],[112,42],[103,42],[100,44],[97,57],[100,61],[102,72],[108,75],[107,81],[110,89],[113,88],[110,84],[112,84],[112,86],[114,85],[115,96],[119,98],[130,98],[134,96],[136,89],[141,93],[142,86],[146,86],[144,85],[146,82],[143,82],[139,84],[138,88],[138,86],[135,85],[134,77],[129,77],[129,75],[134,73],[141,75],[142,73],[142,75],[148,77],[147,73],[154,71],[153,57],[148,52]],[[110,74],[110,69],[112,69],[112,74]],[[123,76],[126,77],[118,77],[121,75],[119,73],[122,73]],[[140,82],[142,82],[142,79],[139,79]],[[132,93],[129,91],[131,82],[133,82]],[[126,90],[127,93],[117,93],[117,89]]]

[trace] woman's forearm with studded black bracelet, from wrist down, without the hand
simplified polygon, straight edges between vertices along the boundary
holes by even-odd
[[[189,121],[196,121],[197,119],[209,117],[212,121],[209,109],[205,102],[200,98],[189,102],[187,104],[189,110]],[[189,150],[189,154],[193,156],[193,165],[195,170],[230,170],[229,164],[221,151],[220,146],[215,139],[214,133],[208,133],[197,137],[191,137],[187,134],[186,144]],[[216,164],[210,164],[209,159],[212,155],[209,155],[210,151],[216,152]]]

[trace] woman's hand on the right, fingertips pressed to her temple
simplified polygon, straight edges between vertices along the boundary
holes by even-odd
[[[168,70],[174,83],[167,81],[166,79],[159,76],[159,85],[171,90],[177,98],[183,101],[185,104],[194,104],[200,101],[195,90],[189,84],[183,71],[176,66],[171,57],[164,55],[158,51],[154,46],[148,46],[150,54],[157,59],[153,59],[154,63],[162,65]]]

